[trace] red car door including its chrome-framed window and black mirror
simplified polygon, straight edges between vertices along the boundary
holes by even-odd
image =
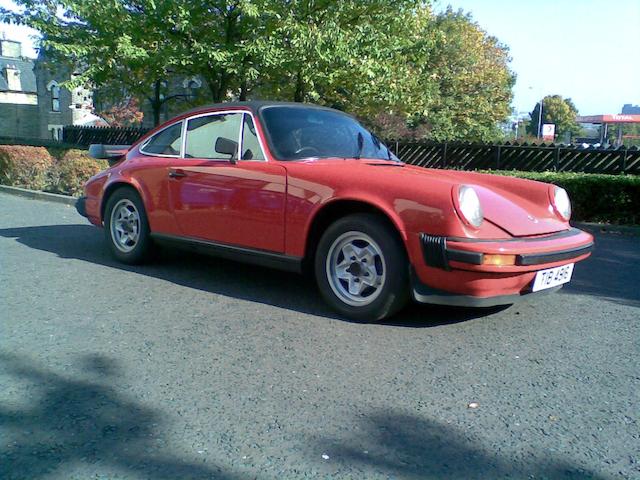
[[[284,252],[286,171],[267,162],[249,112],[187,119],[181,158],[168,175],[183,236]]]

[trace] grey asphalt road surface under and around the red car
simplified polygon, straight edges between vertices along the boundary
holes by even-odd
[[[599,235],[557,294],[357,324],[293,274],[116,264],[72,207],[0,194],[0,477],[640,478],[639,267]]]

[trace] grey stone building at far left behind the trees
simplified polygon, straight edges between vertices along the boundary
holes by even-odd
[[[26,58],[20,42],[0,39],[0,137],[61,140],[65,125],[94,121],[92,92],[64,88],[69,78],[66,69],[52,71],[42,52]]]

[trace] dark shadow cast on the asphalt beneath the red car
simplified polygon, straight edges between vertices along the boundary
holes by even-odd
[[[178,285],[228,297],[274,305],[289,310],[348,321],[327,307],[312,279],[187,251],[159,249],[145,265],[114,260],[102,231],[90,225],[48,225],[0,229],[0,236],[15,238],[30,248],[120,270],[136,272]],[[597,278],[597,274],[595,275]],[[615,289],[615,285],[611,286]],[[581,287],[572,291],[581,292]],[[585,293],[592,294],[590,289]],[[637,292],[635,293],[637,296]],[[637,297],[636,297],[637,298]],[[496,314],[508,307],[467,309],[410,304],[380,325],[425,328],[449,325]]]

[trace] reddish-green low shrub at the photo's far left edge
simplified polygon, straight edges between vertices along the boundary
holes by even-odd
[[[43,190],[54,160],[44,147],[0,145],[0,183]]]

